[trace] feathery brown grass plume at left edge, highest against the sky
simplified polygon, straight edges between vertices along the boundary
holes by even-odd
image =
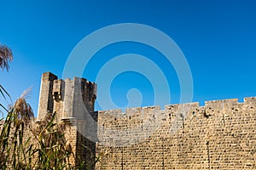
[[[6,45],[0,44],[0,68],[9,71],[9,62],[13,60],[12,50]]]

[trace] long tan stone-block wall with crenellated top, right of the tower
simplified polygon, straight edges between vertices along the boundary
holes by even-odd
[[[256,98],[98,113],[96,169],[256,169]]]

